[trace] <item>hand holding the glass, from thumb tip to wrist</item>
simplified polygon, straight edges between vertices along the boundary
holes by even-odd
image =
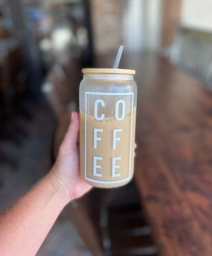
[[[65,193],[69,201],[82,196],[92,187],[80,177],[78,135],[79,114],[72,112],[71,124],[60,146],[57,161],[48,174],[54,187]]]

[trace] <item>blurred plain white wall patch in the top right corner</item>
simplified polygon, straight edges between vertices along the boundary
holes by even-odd
[[[212,0],[183,0],[181,25],[212,31]]]

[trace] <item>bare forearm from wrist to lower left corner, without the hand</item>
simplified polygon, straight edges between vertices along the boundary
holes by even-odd
[[[54,179],[53,179],[54,180]],[[0,252],[34,256],[69,201],[49,175],[0,215]]]

